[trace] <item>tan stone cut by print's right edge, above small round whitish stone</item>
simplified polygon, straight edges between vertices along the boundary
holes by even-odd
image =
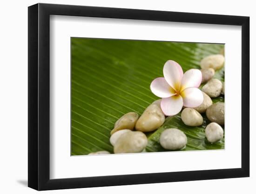
[[[219,125],[224,125],[224,108],[225,106],[223,102],[218,102],[216,104],[211,105],[206,110],[207,118],[212,122],[218,123]]]

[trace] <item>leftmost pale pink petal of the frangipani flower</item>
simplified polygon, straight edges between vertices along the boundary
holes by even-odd
[[[160,98],[168,98],[175,94],[175,90],[170,87],[164,78],[156,78],[153,80],[150,89],[153,94]]]

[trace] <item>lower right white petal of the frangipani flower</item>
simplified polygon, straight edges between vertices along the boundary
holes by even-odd
[[[183,98],[184,107],[198,107],[203,102],[202,91],[196,87],[189,87],[184,89],[181,95]]]

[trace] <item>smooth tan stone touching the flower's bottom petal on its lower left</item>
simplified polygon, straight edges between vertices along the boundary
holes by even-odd
[[[159,105],[151,104],[143,112],[135,125],[137,131],[149,132],[161,127],[164,123],[165,116]]]

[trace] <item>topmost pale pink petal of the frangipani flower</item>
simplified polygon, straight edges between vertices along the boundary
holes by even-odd
[[[182,67],[174,60],[168,60],[163,67],[163,76],[172,88],[178,90],[183,76]]]

